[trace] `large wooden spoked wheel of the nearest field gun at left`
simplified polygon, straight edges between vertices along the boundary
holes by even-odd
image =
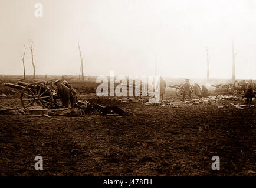
[[[35,105],[51,108],[52,102],[52,92],[43,83],[30,83],[21,92],[21,104],[24,108]]]

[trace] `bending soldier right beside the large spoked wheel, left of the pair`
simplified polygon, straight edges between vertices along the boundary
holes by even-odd
[[[62,105],[65,106],[65,108],[68,108],[68,102],[72,101],[71,89],[65,86],[63,83],[61,83],[60,80],[56,80],[54,82],[54,85],[57,86],[57,97],[61,98]],[[71,106],[72,106],[72,102],[71,102]]]

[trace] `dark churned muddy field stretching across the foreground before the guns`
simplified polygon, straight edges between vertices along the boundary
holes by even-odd
[[[0,115],[1,176],[255,176],[255,108],[218,109],[180,103],[146,106],[96,98],[93,84],[78,98],[117,105],[123,117],[32,117]],[[79,89],[79,88],[78,88]],[[21,106],[17,96],[0,98]],[[255,104],[254,104],[255,105]],[[34,158],[44,170],[34,169]],[[212,170],[219,156],[221,170]]]

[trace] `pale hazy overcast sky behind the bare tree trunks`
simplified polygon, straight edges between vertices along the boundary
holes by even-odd
[[[34,16],[35,3],[42,18]],[[37,75],[154,75],[256,79],[254,0],[1,0],[0,74],[23,74],[19,51],[34,41]],[[31,54],[25,55],[32,74]]]

